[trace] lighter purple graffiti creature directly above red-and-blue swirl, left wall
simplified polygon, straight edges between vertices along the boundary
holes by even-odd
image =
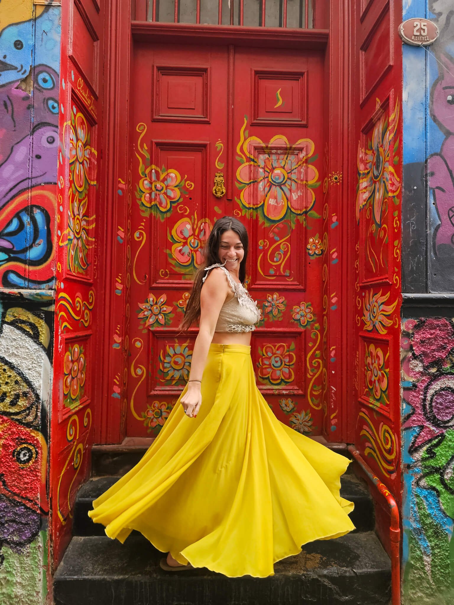
[[[25,189],[57,182],[58,128],[40,124],[0,166],[0,208]]]

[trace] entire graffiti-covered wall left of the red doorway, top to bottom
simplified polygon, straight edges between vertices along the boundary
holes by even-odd
[[[0,9],[0,603],[42,603],[61,9]]]

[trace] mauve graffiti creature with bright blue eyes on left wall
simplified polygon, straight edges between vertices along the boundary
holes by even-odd
[[[36,65],[32,77],[33,98],[17,82],[0,87],[0,166],[30,132],[30,119],[34,125],[58,125],[58,73]]]

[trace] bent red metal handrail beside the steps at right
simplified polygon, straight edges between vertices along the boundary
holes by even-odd
[[[389,506],[389,513],[391,517],[391,523],[389,526],[389,539],[390,539],[390,559],[391,559],[391,603],[392,605],[400,605],[400,517],[397,503],[389,491],[389,489],[373,474],[372,469],[354,445],[348,445],[347,450],[352,454],[354,459],[366,473],[367,477],[372,481],[373,485],[377,488],[379,494],[381,494],[386,500]]]

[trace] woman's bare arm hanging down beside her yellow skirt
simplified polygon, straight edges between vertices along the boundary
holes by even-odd
[[[194,344],[191,371],[189,373],[189,381],[199,382],[188,382],[188,390],[180,400],[185,412],[188,410],[186,416],[191,418],[197,416],[202,404],[200,381],[202,381],[206,357],[214,335],[217,318],[228,292],[229,287],[225,273],[219,267],[214,267],[214,269],[211,269],[200,292],[199,334]]]

